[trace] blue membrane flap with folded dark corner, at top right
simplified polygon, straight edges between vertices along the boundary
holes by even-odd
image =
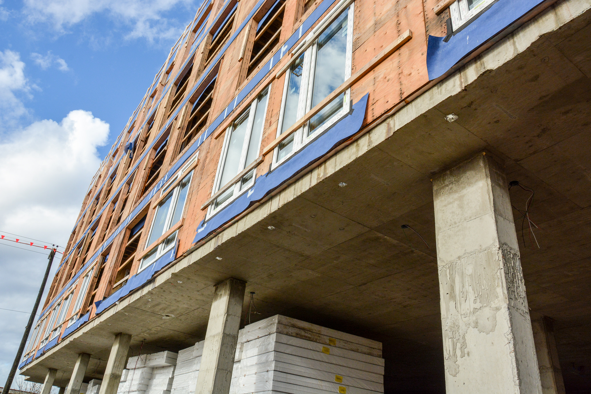
[[[499,0],[454,35],[447,43],[444,37],[430,35],[427,43],[429,80],[442,76],[467,54],[499,34],[543,0]]]

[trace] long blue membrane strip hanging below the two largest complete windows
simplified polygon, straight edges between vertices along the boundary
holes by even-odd
[[[193,243],[204,239],[216,229],[228,223],[234,217],[241,214],[256,202],[262,200],[276,188],[280,187],[285,181],[297,175],[298,172],[305,170],[318,159],[332,151],[336,146],[355,134],[361,128],[365,118],[365,108],[367,106],[368,94],[353,105],[353,113],[350,113],[340,122],[337,122],[329,131],[321,135],[311,144],[307,145],[300,152],[288,159],[279,167],[267,174],[256,178],[255,184],[251,189],[236,198],[235,201],[226,206],[220,213],[212,217],[208,222],[201,222],[197,227],[197,235]]]

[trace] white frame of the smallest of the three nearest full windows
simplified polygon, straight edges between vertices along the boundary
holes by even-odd
[[[191,157],[189,159],[189,161],[187,161],[187,164],[185,164],[181,168],[181,170],[177,172],[176,175],[174,175],[173,177],[170,178],[170,181],[168,181],[162,187],[162,190],[160,191],[160,197],[163,197],[169,193],[172,193],[173,195],[170,198],[172,198],[174,201],[174,204],[171,203],[170,206],[168,207],[168,213],[167,213],[167,216],[166,216],[166,219],[164,222],[164,228],[162,230],[162,234],[166,233],[174,224],[176,224],[176,223],[171,223],[171,222],[173,220],[174,211],[176,210],[176,207],[177,207],[178,193],[180,193],[182,181],[172,191],[168,190],[168,187],[171,184],[173,184],[174,182],[176,182],[178,179],[181,179],[184,177],[189,177],[189,184],[187,184],[187,189],[189,189],[191,187],[191,181],[193,180],[194,170],[191,170],[189,172],[187,172],[187,170],[197,160],[197,157],[199,157],[199,151],[197,151],[197,153],[194,154],[193,157]],[[187,172],[187,174],[185,174],[186,172]],[[188,194],[187,194],[187,196],[188,196]],[[185,200],[183,202],[183,211],[184,211],[186,205],[187,205],[187,198],[185,198]],[[148,236],[146,237],[146,244],[148,243],[148,241],[150,240],[150,237],[152,236],[152,231],[154,230],[154,221],[156,220],[156,217],[158,216],[158,210],[160,210],[160,206],[155,208],[154,216],[152,217],[152,224],[150,226],[150,232],[148,232]],[[181,214],[181,219],[182,218],[183,218],[183,214]],[[178,239],[178,230],[176,232],[174,232],[173,234],[171,234],[170,236],[174,236],[173,242],[169,243],[167,246],[164,246],[164,243],[166,240],[163,240],[163,242],[159,243],[157,246],[152,248],[152,250],[156,249],[155,254],[144,255],[144,257],[139,262],[138,273],[143,271],[144,269],[148,268],[150,265],[152,265],[152,263],[154,263],[157,259],[159,259],[161,256],[163,256],[165,253],[167,253],[168,250],[174,248],[174,245],[176,244],[177,239]],[[145,245],[144,250],[147,249],[148,246],[150,246],[150,245]],[[151,250],[150,250],[150,252],[151,252]],[[152,257],[152,256],[155,256],[155,257]],[[151,261],[148,263],[144,263],[147,258],[151,258]]]

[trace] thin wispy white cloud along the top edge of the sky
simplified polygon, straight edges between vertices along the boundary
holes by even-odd
[[[152,41],[177,38],[184,26],[164,15],[176,6],[193,4],[193,0],[25,0],[24,11],[30,22],[48,22],[59,32],[105,13],[131,27],[127,38]]]

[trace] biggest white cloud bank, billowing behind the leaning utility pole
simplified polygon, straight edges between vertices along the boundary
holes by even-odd
[[[108,134],[108,123],[83,110],[73,110],[61,122],[38,121],[4,133],[0,139],[0,233],[65,246],[89,180],[100,165],[97,147],[106,143]],[[7,246],[15,245],[11,242],[0,243],[0,308],[30,311],[47,258]],[[53,271],[60,259],[57,255]],[[52,279],[53,272],[47,288]],[[0,349],[2,379],[27,318],[25,313],[0,310],[0,342],[6,345]]]

